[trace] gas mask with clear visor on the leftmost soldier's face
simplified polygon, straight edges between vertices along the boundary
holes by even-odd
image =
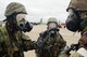
[[[16,15],[16,22],[17,22],[17,27],[20,28],[21,31],[28,32],[33,29],[33,26],[25,20],[26,14],[17,14]]]

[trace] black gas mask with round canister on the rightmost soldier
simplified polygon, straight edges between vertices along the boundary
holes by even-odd
[[[80,26],[80,17],[79,17],[79,14],[73,10],[73,9],[70,9],[69,10],[69,17],[66,19],[66,28],[73,32],[77,31],[79,29],[79,26]]]

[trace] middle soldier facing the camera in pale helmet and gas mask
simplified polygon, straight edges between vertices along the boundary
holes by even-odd
[[[37,57],[59,57],[59,54],[66,45],[66,42],[59,33],[57,18],[50,17],[48,19],[47,30],[40,33],[36,43],[38,45],[38,48],[36,49]]]

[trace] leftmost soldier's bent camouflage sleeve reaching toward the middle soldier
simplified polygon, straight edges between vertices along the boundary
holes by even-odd
[[[35,41],[32,41],[28,35],[22,34],[23,48],[24,51],[32,51],[37,48],[37,44]]]

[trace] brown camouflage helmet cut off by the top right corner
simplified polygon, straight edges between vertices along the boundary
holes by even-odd
[[[87,11],[87,0],[71,0],[69,9],[75,9],[76,11]]]

